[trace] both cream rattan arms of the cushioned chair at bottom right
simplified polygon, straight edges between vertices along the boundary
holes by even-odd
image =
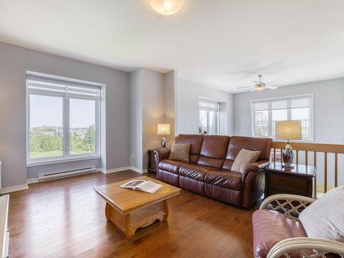
[[[278,194],[267,197],[259,209],[279,211],[286,217],[299,222],[299,214],[315,200],[300,195]],[[310,237],[292,237],[279,241],[268,252],[267,258],[290,258],[290,253],[299,257],[344,257],[344,243]],[[289,254],[289,255],[288,255]]]

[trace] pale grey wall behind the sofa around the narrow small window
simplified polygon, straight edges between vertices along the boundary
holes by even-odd
[[[199,100],[208,98],[220,104],[219,133],[231,135],[233,132],[233,94],[206,87],[189,80],[178,78],[175,105],[176,134],[198,133]]]

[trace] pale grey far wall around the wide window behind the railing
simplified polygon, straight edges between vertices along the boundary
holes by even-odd
[[[344,143],[344,78],[323,80],[281,87],[275,90],[234,95],[234,134],[250,136],[250,100],[279,98],[301,94],[314,96],[314,142]],[[309,164],[313,162],[314,153],[308,152]],[[324,182],[324,153],[317,153],[317,182]],[[299,153],[299,162],[304,164],[305,152]],[[328,185],[334,186],[334,154],[327,154]],[[344,155],[338,155],[338,184],[344,185]]]

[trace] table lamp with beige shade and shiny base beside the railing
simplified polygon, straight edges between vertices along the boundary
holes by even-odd
[[[283,164],[287,169],[292,169],[292,160],[294,152],[289,140],[302,140],[301,121],[277,121],[276,122],[276,139],[287,140],[287,144],[282,151]]]

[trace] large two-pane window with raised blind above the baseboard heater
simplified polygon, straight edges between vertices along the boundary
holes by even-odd
[[[99,155],[100,87],[28,75],[27,162]]]

